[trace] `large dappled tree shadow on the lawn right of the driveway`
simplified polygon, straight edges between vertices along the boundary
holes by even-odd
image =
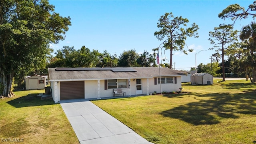
[[[190,95],[191,96],[191,95]],[[218,124],[225,118],[239,118],[239,114],[256,115],[256,92],[241,94],[199,94],[208,100],[190,102],[161,112],[165,117],[178,118],[193,125]]]

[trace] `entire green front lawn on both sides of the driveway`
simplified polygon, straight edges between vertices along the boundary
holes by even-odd
[[[156,144],[256,143],[256,84],[182,85],[187,93],[92,102]],[[0,99],[0,143],[79,143],[60,104],[37,96],[43,92],[15,91]]]

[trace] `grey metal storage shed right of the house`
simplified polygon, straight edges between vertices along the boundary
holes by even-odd
[[[210,85],[213,84],[213,76],[208,73],[195,73],[191,76],[191,84]]]

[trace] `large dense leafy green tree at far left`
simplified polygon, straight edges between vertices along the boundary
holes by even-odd
[[[2,96],[10,97],[14,76],[45,63],[49,43],[64,40],[71,22],[47,0],[1,0],[0,5],[0,89]]]

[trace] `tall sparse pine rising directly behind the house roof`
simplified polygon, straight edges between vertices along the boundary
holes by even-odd
[[[172,68],[172,51],[180,50],[187,54],[187,51],[184,50],[185,40],[187,36],[198,38],[197,30],[199,27],[193,23],[191,27],[186,28],[188,19],[181,16],[174,17],[172,12],[165,13],[158,21],[157,27],[161,29],[156,31],[154,35],[158,40],[164,40],[162,44],[165,50],[170,50],[170,68]],[[188,49],[188,51],[192,52],[193,49]]]

